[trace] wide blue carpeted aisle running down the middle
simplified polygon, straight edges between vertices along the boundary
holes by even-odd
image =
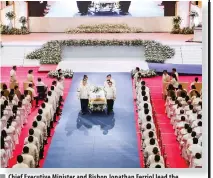
[[[74,74],[44,168],[139,168],[130,73],[112,73],[117,100],[110,116],[79,115],[76,91],[84,74]],[[87,75],[90,83],[103,86],[107,73]]]

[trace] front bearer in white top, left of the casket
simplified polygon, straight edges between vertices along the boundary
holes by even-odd
[[[87,80],[84,79],[82,85],[78,89],[78,99],[81,102],[81,114],[84,115],[88,112],[90,88],[87,85]]]

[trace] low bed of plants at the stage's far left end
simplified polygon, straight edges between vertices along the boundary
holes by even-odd
[[[29,34],[29,30],[27,28],[10,28],[7,25],[0,26],[0,33],[3,35],[26,35]]]

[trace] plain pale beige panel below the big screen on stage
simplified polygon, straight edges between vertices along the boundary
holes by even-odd
[[[87,24],[120,24],[142,28],[144,32],[170,32],[173,17],[30,17],[31,32],[64,32],[67,28],[76,28]]]

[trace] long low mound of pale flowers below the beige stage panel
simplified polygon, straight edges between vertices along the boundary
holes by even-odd
[[[129,27],[127,24],[80,25],[67,29],[66,33],[142,33],[141,28]]]

